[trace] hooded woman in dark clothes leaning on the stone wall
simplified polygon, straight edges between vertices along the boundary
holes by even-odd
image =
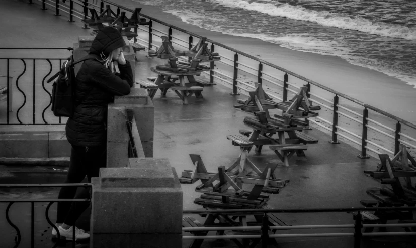
[[[99,176],[99,170],[106,167],[107,145],[107,104],[115,95],[127,95],[133,86],[130,63],[124,59],[122,47],[126,45],[120,32],[112,27],[101,29],[95,37],[89,54],[96,59],[86,60],[76,75],[74,114],[66,122],[66,137],[72,146],[71,161],[65,183],[80,183],[87,176]],[[100,62],[99,62],[100,61]],[[116,61],[120,74],[114,73]],[[58,198],[90,198],[90,190],[84,188],[75,196],[75,187],[62,187]],[[74,226],[75,221],[89,206],[89,203],[59,202],[56,217],[61,238],[72,240],[88,239],[90,234]],[[57,233],[52,229],[52,237]]]

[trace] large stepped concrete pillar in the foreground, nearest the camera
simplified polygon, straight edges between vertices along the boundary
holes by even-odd
[[[168,159],[130,158],[93,178],[90,247],[182,247],[183,192]]]

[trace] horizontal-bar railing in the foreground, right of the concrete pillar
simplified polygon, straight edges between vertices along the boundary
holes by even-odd
[[[363,224],[361,212],[370,211],[414,211],[416,207],[365,207],[365,208],[309,208],[309,209],[229,209],[229,210],[184,210],[183,215],[262,215],[262,225],[259,226],[218,226],[218,227],[183,227],[182,231],[192,231],[194,236],[183,236],[183,240],[195,240],[195,239],[261,239],[262,247],[268,247],[269,238],[290,238],[290,237],[353,237],[354,248],[361,246],[362,237],[375,237],[375,236],[415,236],[416,231],[408,232],[362,232],[362,228],[374,228],[374,227],[416,227],[416,223],[399,223],[399,224]],[[295,225],[295,226],[275,226],[270,225],[269,216],[270,213],[330,213],[330,212],[355,212],[354,224],[336,224],[336,225]],[[292,233],[292,234],[269,234],[269,231],[273,230],[288,230],[288,229],[331,229],[331,228],[350,228],[351,232],[338,232],[338,233]],[[207,231],[244,231],[244,230],[257,230],[259,234],[249,235],[202,235]],[[201,234],[195,232],[201,231]],[[274,232],[275,233],[275,232]]]

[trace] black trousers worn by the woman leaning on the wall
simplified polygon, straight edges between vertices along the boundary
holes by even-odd
[[[71,162],[65,183],[80,183],[86,176],[88,182],[91,182],[92,177],[99,176],[100,168],[106,167],[106,155],[106,145],[100,147],[72,146]],[[76,194],[76,191],[76,187],[62,187],[58,198],[90,199],[89,188],[82,188],[78,194]],[[75,221],[89,205],[89,202],[58,202],[56,223],[65,223],[69,226],[74,225]]]

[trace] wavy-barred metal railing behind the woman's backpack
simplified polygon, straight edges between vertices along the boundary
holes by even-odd
[[[69,50],[73,48],[0,48],[0,50]],[[68,55],[69,56],[72,56]],[[61,68],[62,62],[67,58],[0,58],[0,68],[5,73],[5,87],[1,87],[2,95],[6,98],[6,106],[3,105],[4,115],[1,116],[0,125],[59,125],[62,124],[61,117],[52,116],[52,112],[46,113],[52,104],[52,87],[46,88],[46,79],[52,72]],[[27,71],[28,67],[31,71]],[[41,72],[43,70],[43,72]],[[13,73],[17,72],[17,73]],[[13,74],[12,74],[13,73]],[[16,77],[16,80],[13,80]],[[40,83],[41,80],[41,83]],[[14,81],[14,82],[13,82]],[[42,87],[43,91],[39,91]],[[19,94],[20,92],[20,94]],[[42,92],[47,95],[42,96]],[[46,107],[42,108],[41,105]],[[20,99],[17,99],[20,98]],[[31,100],[29,106],[28,99]],[[18,102],[22,102],[19,104]],[[17,110],[16,110],[17,108]],[[30,108],[30,110],[29,110]],[[25,116],[22,112],[26,110]],[[15,113],[15,114],[14,114]],[[42,117],[42,120],[39,119]],[[48,116],[48,117],[46,117]],[[49,119],[49,120],[47,120]]]

